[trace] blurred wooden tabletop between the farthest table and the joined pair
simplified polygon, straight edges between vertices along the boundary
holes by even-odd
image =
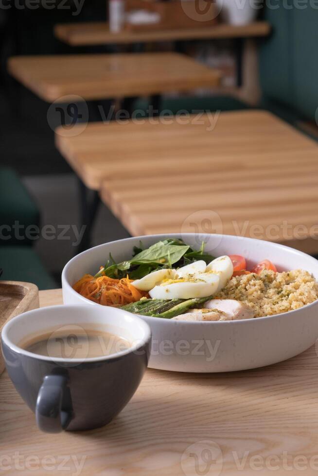
[[[179,53],[15,56],[8,71],[40,98],[53,102],[121,98],[214,87],[220,73]]]

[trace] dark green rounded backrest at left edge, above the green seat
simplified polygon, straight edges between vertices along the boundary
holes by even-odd
[[[24,236],[29,225],[38,225],[39,210],[12,169],[0,168],[0,203],[0,245],[32,244],[32,240],[18,239],[18,235]],[[18,233],[13,228],[15,222],[23,226]]]

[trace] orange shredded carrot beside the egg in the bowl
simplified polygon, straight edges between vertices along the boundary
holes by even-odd
[[[136,289],[128,276],[122,279],[113,279],[109,276],[94,278],[91,274],[84,276],[74,284],[73,289],[90,301],[103,306],[124,306],[135,303],[142,297],[149,297],[145,291]]]

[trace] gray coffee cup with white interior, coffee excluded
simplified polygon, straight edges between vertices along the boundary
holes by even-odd
[[[42,356],[19,346],[29,335],[63,326],[99,326],[131,347],[88,358]],[[151,331],[145,322],[108,306],[52,306],[20,314],[2,329],[8,374],[42,431],[88,430],[109,423],[129,402],[147,367]]]

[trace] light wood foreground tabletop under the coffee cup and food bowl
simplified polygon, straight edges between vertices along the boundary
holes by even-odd
[[[41,306],[56,304],[62,304],[60,289],[40,291]],[[37,430],[5,372],[0,468],[14,475],[57,474],[62,468],[63,474],[82,476],[316,475],[317,366],[311,347],[245,372],[148,369],[112,423],[58,435]]]

